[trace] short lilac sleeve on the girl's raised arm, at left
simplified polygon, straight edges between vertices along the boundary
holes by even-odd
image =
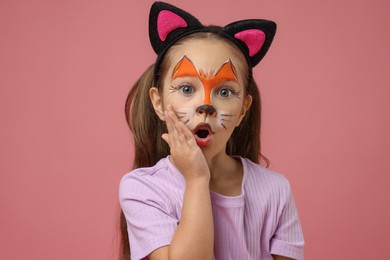
[[[157,248],[169,245],[178,225],[167,193],[142,177],[130,173],[119,185],[132,260],[143,259]]]

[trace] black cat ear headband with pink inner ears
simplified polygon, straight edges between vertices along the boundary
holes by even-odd
[[[173,5],[155,2],[149,14],[149,38],[157,60],[154,67],[154,83],[158,80],[158,68],[166,51],[179,39],[196,32],[213,32],[233,42],[244,54],[252,68],[265,56],[276,32],[276,24],[262,19],[241,20],[224,27],[203,26],[198,19]]]

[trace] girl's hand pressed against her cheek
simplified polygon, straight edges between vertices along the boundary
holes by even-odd
[[[168,105],[164,113],[168,133],[163,134],[162,138],[171,149],[172,163],[183,174],[187,183],[192,180],[209,182],[210,170],[194,135],[177,118],[172,106]]]

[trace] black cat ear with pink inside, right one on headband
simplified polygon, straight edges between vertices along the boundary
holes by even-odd
[[[226,25],[222,33],[234,39],[241,50],[246,53],[253,68],[271,46],[276,33],[276,23],[260,19],[242,20]]]

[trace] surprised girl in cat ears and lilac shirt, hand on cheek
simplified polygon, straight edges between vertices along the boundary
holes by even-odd
[[[252,68],[276,25],[203,26],[154,3],[158,57],[126,102],[134,170],[119,188],[124,258],[303,259],[289,183],[259,163],[260,96]],[[126,255],[127,254],[127,255]]]

